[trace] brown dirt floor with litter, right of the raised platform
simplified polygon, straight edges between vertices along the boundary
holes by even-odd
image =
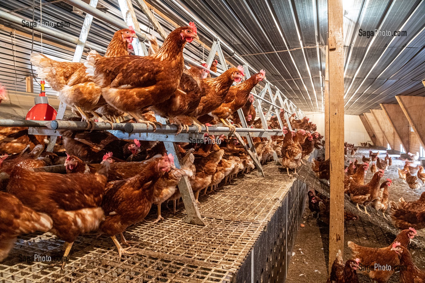
[[[368,156],[369,150],[377,152],[378,149],[370,147],[359,147],[354,157],[348,156],[348,160],[354,161],[358,158],[361,162],[362,155]],[[379,150],[381,158],[385,157],[385,150]],[[399,159],[398,155],[390,155],[393,159],[393,164],[385,171],[384,178],[391,178],[393,181],[389,188],[389,199],[398,202],[400,197],[406,201],[414,201],[419,198],[425,187],[419,190],[412,190],[407,184],[399,179],[397,168],[404,166],[404,161]],[[372,173],[369,170],[366,174],[365,182],[370,181]],[[383,181],[383,179],[381,180]],[[419,181],[422,184],[421,181]],[[347,198],[346,198],[347,201]],[[349,201],[349,200],[348,200]],[[346,202],[346,209],[348,205]],[[357,211],[360,215],[360,211]],[[365,217],[365,214],[360,215],[358,221],[350,221],[345,223],[344,233],[344,260],[351,258],[351,250],[347,246],[347,241],[353,241],[362,246],[368,247],[384,247],[388,246],[395,238],[394,227],[391,221],[386,221],[382,214],[379,217],[373,208],[368,207],[368,212],[372,218]],[[305,227],[298,227],[297,239],[292,251],[292,258],[289,264],[287,275],[287,283],[311,283],[311,282],[326,282],[328,269],[328,246],[329,246],[329,226],[320,220],[312,217],[308,206],[303,214],[303,224]],[[389,217],[388,217],[389,219]],[[388,229],[386,229],[388,228]],[[411,251],[414,263],[419,269],[425,271],[425,231],[418,231],[419,237],[415,237],[409,249]],[[366,275],[359,274],[360,283],[372,283]],[[399,274],[395,273],[391,276],[388,283],[399,282]]]

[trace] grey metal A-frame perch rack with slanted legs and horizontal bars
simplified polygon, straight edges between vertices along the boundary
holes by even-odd
[[[147,36],[146,36],[146,34],[142,33],[140,28],[139,28],[139,24],[137,22],[136,14],[135,14],[133,6],[131,4],[131,0],[118,0],[120,9],[122,11],[123,19],[125,20],[125,23],[123,21],[119,21],[119,20],[116,20],[114,18],[108,17],[107,14],[97,10],[96,9],[97,0],[91,0],[90,5],[87,4],[87,3],[84,3],[81,0],[65,0],[65,2],[67,2],[68,4],[71,4],[72,6],[77,7],[79,9],[81,9],[82,11],[86,12],[85,21],[83,23],[79,39],[76,41],[77,46],[76,46],[76,51],[75,51],[75,54],[74,54],[73,62],[79,62],[80,61],[84,46],[88,45],[85,41],[87,39],[88,31],[90,30],[90,26],[91,26],[91,22],[93,20],[93,17],[96,17],[100,20],[105,21],[106,23],[109,23],[109,24],[114,25],[114,26],[119,27],[119,28],[126,28],[128,25],[133,25],[135,30],[136,30],[136,34],[139,37],[139,39],[133,40],[133,48],[135,50],[135,53],[136,53],[136,55],[147,55],[146,45],[142,44],[142,42],[139,41],[139,40],[142,40],[142,41],[146,40]],[[147,17],[152,18],[152,20],[154,20],[152,14],[149,14],[149,13],[146,13],[146,14],[147,14]],[[13,16],[13,15],[10,15],[10,14],[7,14],[7,13],[6,13],[6,15],[4,15],[4,13],[0,14],[0,17],[3,17],[3,18],[14,17],[13,20],[14,20],[15,23],[18,23],[18,21],[19,21],[19,17]],[[68,42],[70,40],[72,40],[72,38],[70,38],[69,36],[68,36],[68,38],[64,37],[63,34],[59,34],[57,31],[50,31],[46,28],[42,28],[42,30],[40,30],[40,31],[41,32],[47,32],[48,34],[50,34],[54,37],[59,37],[59,38],[66,40]],[[74,42],[75,42],[75,40],[74,40]],[[88,46],[88,47],[90,47],[90,46]],[[226,48],[229,49],[229,47],[227,45],[226,45]],[[96,49],[99,50],[99,48],[96,48]],[[223,67],[225,69],[227,69],[226,60],[224,58],[223,51],[221,50],[220,40],[218,39],[218,37],[215,37],[215,40],[214,40],[214,43],[213,43],[213,46],[212,46],[212,50],[211,50],[210,55],[209,55],[208,60],[207,60],[208,69],[210,68],[210,66],[212,64],[212,60],[214,59],[216,52],[218,53],[218,57],[219,57],[222,65],[223,65]],[[242,60],[240,57],[238,57],[238,59],[240,59],[241,62],[244,62],[244,60]],[[200,66],[197,62],[193,62],[190,59],[185,59],[185,62],[189,62],[192,65]],[[244,65],[246,66],[247,74],[249,74],[248,64],[246,62],[244,62]],[[219,74],[215,74],[214,72],[211,72],[211,73],[215,76],[219,75]],[[264,99],[264,95],[265,95],[267,90],[270,93],[270,98],[272,100],[271,102]],[[254,144],[253,144],[253,141],[252,141],[252,136],[264,136],[264,137],[270,138],[271,135],[281,135],[282,134],[281,130],[283,130],[283,123],[280,119],[280,115],[277,115],[281,129],[278,130],[278,131],[268,130],[267,123],[266,123],[267,117],[263,116],[263,112],[262,112],[262,108],[261,108],[261,102],[266,102],[267,104],[271,105],[270,109],[274,108],[277,113],[279,113],[280,109],[282,109],[283,111],[285,111],[285,115],[286,115],[285,117],[287,117],[287,113],[294,113],[294,111],[295,111],[293,106],[292,106],[293,103],[292,103],[292,105],[284,105],[282,103],[282,98],[280,96],[281,93],[280,93],[279,90],[276,92],[276,96],[279,98],[281,106],[279,107],[278,105],[275,104],[275,97],[272,94],[269,82],[266,83],[266,87],[263,89],[263,91],[264,92],[261,93],[261,96],[257,96],[256,93],[255,93],[255,90],[253,90],[253,93],[252,93],[257,98],[257,104],[256,104],[257,112],[258,112],[260,119],[261,119],[261,122],[263,124],[263,129],[249,129],[249,128],[247,128],[247,123],[246,123],[245,117],[242,113],[242,110],[240,109],[240,110],[238,110],[238,114],[239,114],[240,119],[241,119],[241,124],[243,125],[244,128],[238,128],[235,133],[231,133],[227,130],[222,130],[222,132],[221,132],[222,134],[224,134],[226,136],[231,136],[233,134],[239,140],[239,142],[242,145],[245,145],[245,143],[244,143],[243,139],[241,138],[241,136],[246,137],[246,139],[248,140],[248,144],[249,144],[249,149],[245,145],[247,153],[253,159],[253,161],[254,161],[257,169],[258,169],[259,175],[262,175],[262,176],[264,176],[264,173],[263,173],[260,161],[258,160],[258,156],[257,156],[256,151],[255,151],[255,147],[254,147]],[[287,101],[286,97],[285,97],[285,99]],[[260,102],[260,100],[261,100],[261,102]],[[292,108],[291,108],[291,106],[292,106]],[[64,113],[65,113],[65,109],[66,109],[66,105],[61,102],[61,104],[59,105],[57,119],[63,118]],[[295,113],[295,114],[297,115],[297,113]],[[166,124],[164,118],[157,116],[157,119],[159,119],[159,122],[161,122],[162,124]],[[5,125],[5,126],[8,126],[8,125],[13,126],[13,125],[16,125],[16,124],[27,124],[27,123],[23,123],[23,122],[20,122],[20,121],[13,121],[13,120],[12,121],[6,120],[6,121],[2,121],[2,122],[3,122],[2,124]],[[65,122],[65,124],[68,124],[68,127],[67,127],[68,129],[73,128],[72,125],[71,125],[72,123],[70,124],[69,121],[53,121],[51,124],[56,123],[59,126],[59,124],[64,124],[64,122]],[[290,128],[290,124],[289,124],[288,119],[287,119],[287,122],[288,122],[288,126]],[[43,122],[33,122],[33,123],[34,124],[31,124],[31,125],[37,125],[37,126],[36,127],[30,127],[29,130],[28,130],[28,133],[30,133],[30,134],[42,134],[42,135],[47,134],[47,135],[51,136],[51,142],[48,146],[48,150],[52,151],[54,144],[56,142],[56,137],[60,136],[59,132],[57,130],[54,130],[54,129],[53,130],[48,129],[46,127],[46,124],[43,124]],[[85,122],[75,122],[75,123],[76,124],[74,124],[74,129],[79,129],[79,130],[84,129],[87,125],[87,123],[85,123]],[[81,123],[81,124],[79,124],[79,123]],[[30,124],[28,124],[28,125],[30,125]],[[52,125],[50,125],[50,126],[52,126]],[[117,136],[121,139],[133,139],[134,136],[138,136],[136,138],[142,139],[141,133],[146,133],[146,139],[145,140],[162,140],[162,141],[164,141],[164,144],[165,144],[167,151],[176,155],[176,156],[179,156],[179,155],[177,154],[178,150],[176,150],[174,142],[189,141],[194,136],[198,136],[198,137],[203,136],[203,133],[193,133],[193,131],[195,131],[195,129],[193,129],[193,128],[191,129],[192,133],[181,133],[177,136],[174,136],[173,133],[175,133],[176,130],[174,130],[172,128],[173,127],[172,125],[166,126],[166,127],[170,127],[170,128],[167,128],[165,130],[165,133],[161,133],[160,131],[157,131],[155,133],[150,132],[150,130],[147,127],[145,129],[143,129],[143,128],[138,129],[139,130],[138,132],[134,131],[132,133],[127,133],[127,132],[125,132],[125,126],[126,126],[125,124],[114,124],[115,130],[111,130],[111,127],[109,125],[103,125],[102,123],[96,123],[95,129],[96,130],[101,130],[101,129],[111,130],[111,133],[113,133],[115,136]],[[134,126],[136,126],[136,128],[139,127],[137,125],[133,125],[133,126],[131,126],[131,127],[133,127],[133,130],[137,130],[137,129],[134,129]],[[109,127],[109,129],[108,129],[108,127]],[[119,129],[119,130],[117,130],[117,129]],[[216,130],[218,130],[218,128]],[[261,130],[261,131],[258,131],[258,130]],[[278,158],[277,158],[276,153],[274,154],[274,158],[275,158],[275,162],[278,163]],[[178,160],[178,158],[176,159],[176,167],[180,167],[180,161]],[[181,184],[179,184],[179,187],[181,187],[180,189],[183,190],[182,191],[182,197],[183,197],[184,205],[185,205],[187,212],[188,212],[188,217],[187,217],[186,221],[188,223],[202,225],[203,222],[201,220],[201,216],[199,214],[199,210],[198,210],[198,207],[195,203],[195,199],[193,197],[193,192],[190,189],[190,183],[187,180],[187,178],[184,178],[184,180],[182,180]]]

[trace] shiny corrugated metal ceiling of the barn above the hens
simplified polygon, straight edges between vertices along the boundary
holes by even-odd
[[[425,96],[421,82],[425,79],[425,0],[343,2],[346,113],[360,114],[380,108],[379,103],[397,103],[396,95]],[[40,20],[39,0],[0,0],[0,3],[2,11],[28,21],[33,18],[35,6],[34,19]],[[208,27],[206,30],[198,26],[201,42],[187,45],[185,53],[191,59],[206,60],[208,47],[216,36],[252,68],[265,69],[267,79],[275,86],[273,90],[280,89],[298,108],[323,111],[325,0],[147,0],[147,3],[154,7],[153,12],[166,32],[174,29],[170,22],[184,25],[195,21]],[[54,28],[79,36],[84,13],[65,1],[41,0],[41,4],[43,22],[67,21],[69,27]],[[142,31],[160,39],[136,1],[133,6]],[[99,0],[97,8],[110,17],[122,19],[116,0]],[[30,28],[0,21],[0,82],[7,88],[25,91],[25,77],[32,75],[31,49],[42,51],[52,59],[72,60],[73,44],[43,34],[41,45],[37,31],[32,44]],[[381,33],[371,36],[370,31],[375,29]],[[88,42],[106,48],[114,31],[115,27],[94,18]],[[86,48],[85,52],[88,51]],[[223,51],[231,64],[241,63],[225,47]],[[34,88],[37,92],[36,82]]]

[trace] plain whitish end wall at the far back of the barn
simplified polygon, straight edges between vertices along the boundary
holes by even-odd
[[[325,114],[324,113],[308,113],[304,112],[310,121],[317,125],[317,131],[324,135],[325,133]],[[344,140],[355,146],[360,146],[361,142],[371,142],[358,115],[344,115]]]

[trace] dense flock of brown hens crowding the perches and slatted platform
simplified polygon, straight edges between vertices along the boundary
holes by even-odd
[[[108,131],[93,131],[96,119],[111,123],[129,115],[134,120],[127,122],[156,129],[156,114],[175,122],[178,131],[187,125],[201,130],[222,122],[234,132],[227,119],[240,123],[235,115],[240,108],[249,126],[262,127],[255,120],[250,91],[265,72],[241,82],[241,66],[216,78],[207,77],[209,71],[204,68],[184,70],[184,45],[197,37],[196,26],[190,23],[172,31],[161,48],[151,40],[149,56],[133,56],[129,51],[136,34],[130,27],[114,34],[104,57],[91,51],[84,64],[31,54],[38,76],[79,113],[80,117],[69,120],[84,119],[89,125],[85,130],[59,130],[54,152],[44,150],[46,136],[29,135],[25,127],[0,128],[0,260],[7,257],[18,235],[35,231],[50,232],[65,241],[64,257],[58,263],[62,268],[74,241],[89,232],[110,236],[119,256],[133,254],[123,232],[142,221],[152,206],[157,207],[155,222],[164,219],[164,202],[171,201],[176,212],[181,178],[188,178],[198,202],[200,192],[214,192],[222,181],[230,182],[238,173],[254,168],[245,148],[227,136],[206,133],[204,143],[178,143],[182,164],[178,169],[163,142],[121,140]],[[216,65],[213,62],[212,71]],[[232,86],[233,82],[241,83]],[[283,139],[253,139],[259,161],[266,163],[276,152],[288,175],[289,169],[296,173],[314,147],[320,148],[323,138],[306,117],[297,119],[294,114],[289,122],[298,130],[285,128]],[[276,116],[268,126],[279,128]],[[59,164],[65,165],[66,174],[38,169]]]

